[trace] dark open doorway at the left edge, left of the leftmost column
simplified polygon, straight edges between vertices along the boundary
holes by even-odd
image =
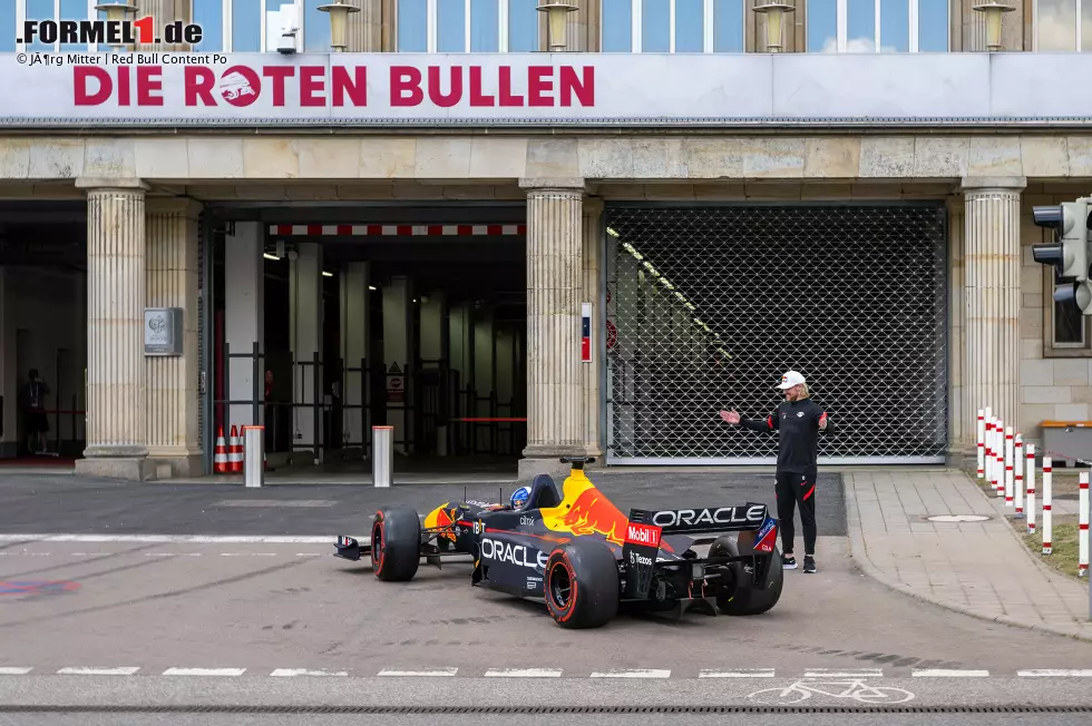
[[[81,455],[86,366],[85,204],[0,203],[0,464]]]

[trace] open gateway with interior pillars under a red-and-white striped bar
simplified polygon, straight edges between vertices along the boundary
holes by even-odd
[[[208,451],[221,430],[257,419],[271,477],[368,474],[372,426],[390,425],[396,472],[515,474],[526,445],[523,207],[257,217],[211,235]]]

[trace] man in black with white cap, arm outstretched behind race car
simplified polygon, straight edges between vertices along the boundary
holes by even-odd
[[[784,569],[794,570],[792,557],[792,513],[800,504],[803,523],[803,571],[816,571],[816,478],[818,477],[819,432],[830,433],[833,426],[821,405],[811,400],[808,383],[797,371],[781,376],[778,386],[784,391],[784,403],[766,419],[740,419],[735,411],[721,411],[728,423],[751,431],[779,432],[777,487],[778,519],[781,524],[781,559]]]

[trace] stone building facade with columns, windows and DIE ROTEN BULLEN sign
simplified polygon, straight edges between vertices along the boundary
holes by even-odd
[[[263,256],[291,261],[289,398],[311,406],[290,414],[292,438],[316,458],[341,435],[320,420],[314,373],[334,274],[332,355],[368,360],[359,331],[383,327],[371,357],[396,429],[450,425],[399,404],[399,361],[450,367],[456,347],[505,341],[481,353],[481,375],[521,415],[482,418],[526,419],[525,473],[577,452],[771,462],[774,439],[727,431],[716,412],[766,415],[788,367],[842,423],[826,462],[973,455],[985,406],[1041,442],[1044,422],[1092,418],[1092,330],[1054,304],[1030,253],[1050,241],[1031,207],[1083,196],[1092,178],[1092,101],[1071,81],[1092,68],[1082,1],[1010,3],[992,36],[972,2],[796,0],[778,48],[753,0],[573,0],[564,49],[547,53],[559,39],[535,0],[352,0],[345,52],[330,52],[318,0],[137,0],[133,17],[202,29],[156,56],[163,43],[22,38],[27,20],[104,11],[16,0],[0,11],[0,67],[19,89],[0,111],[0,200],[10,219],[37,209],[40,224],[84,226],[86,276],[66,290],[86,301],[67,323],[86,331],[66,367],[77,467],[208,472],[225,422],[269,425],[260,369],[233,362],[271,335]],[[68,55],[80,52],[97,56]],[[64,62],[36,62],[48,56]],[[435,307],[442,277],[325,269],[338,237],[384,235],[514,239],[525,320],[479,328],[472,305]],[[456,264],[462,247],[447,249]],[[0,264],[12,421],[26,367],[12,331],[55,296]],[[438,312],[416,312],[418,297]],[[155,317],[164,308],[177,317]],[[149,352],[149,325],[170,324],[177,346]],[[367,367],[338,389],[360,409],[341,438],[365,455]]]

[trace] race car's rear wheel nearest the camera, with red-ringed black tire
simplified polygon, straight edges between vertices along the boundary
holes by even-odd
[[[598,628],[618,612],[618,560],[604,542],[576,539],[546,560],[546,609],[563,628]]]

